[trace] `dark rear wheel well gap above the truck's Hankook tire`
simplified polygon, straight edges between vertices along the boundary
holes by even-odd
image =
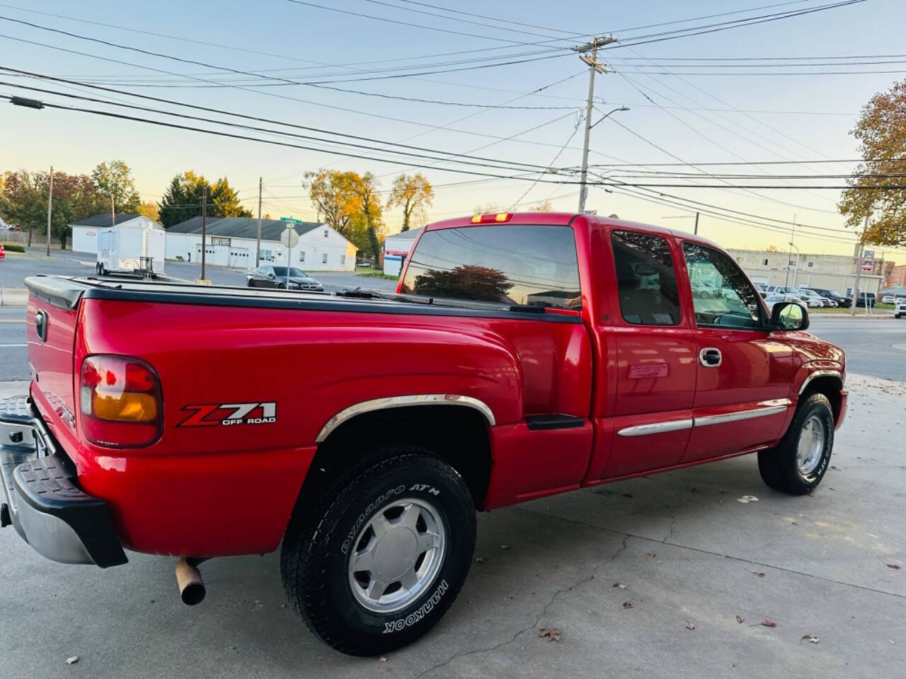
[[[352,417],[338,426],[314,454],[300,502],[316,498],[351,464],[378,456],[389,446],[425,448],[455,469],[477,509],[484,506],[491,476],[487,420],[464,406],[404,406]]]

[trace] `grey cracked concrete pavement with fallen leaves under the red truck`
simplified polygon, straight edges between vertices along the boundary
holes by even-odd
[[[286,606],[276,554],[206,563],[208,596],[189,608],[173,559],[65,566],[0,531],[2,674],[898,675],[906,385],[851,376],[847,386],[834,466],[812,496],[769,491],[745,456],[479,515],[483,560],[456,604],[386,662],[314,639]],[[878,426],[882,408],[897,416]],[[744,496],[758,501],[737,502]],[[562,642],[539,638],[539,627],[555,627]],[[72,655],[79,662],[65,665]]]

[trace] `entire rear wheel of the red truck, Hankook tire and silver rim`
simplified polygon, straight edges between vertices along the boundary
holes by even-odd
[[[336,479],[294,516],[280,569],[296,613],[324,642],[378,655],[425,634],[447,611],[475,550],[462,477],[428,451],[385,451]]]

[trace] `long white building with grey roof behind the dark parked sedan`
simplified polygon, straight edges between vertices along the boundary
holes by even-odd
[[[304,271],[355,271],[356,247],[331,226],[308,222],[297,224],[299,244],[292,253],[280,242],[286,223],[261,220],[261,262],[292,266]],[[253,217],[208,217],[205,262],[219,266],[254,269],[258,220]],[[167,229],[167,259],[201,260],[201,217],[192,217]]]

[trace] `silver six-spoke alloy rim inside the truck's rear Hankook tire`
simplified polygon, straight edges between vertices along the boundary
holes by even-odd
[[[425,500],[407,498],[372,516],[353,544],[352,594],[368,610],[393,613],[430,587],[447,540],[438,510]]]

